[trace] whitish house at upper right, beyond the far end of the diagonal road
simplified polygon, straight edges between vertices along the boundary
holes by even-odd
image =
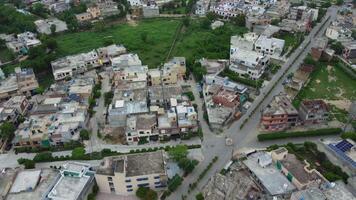
[[[336,40],[339,42],[351,41],[352,31],[347,28],[341,27],[337,24],[330,25],[325,32],[325,36],[329,39]]]

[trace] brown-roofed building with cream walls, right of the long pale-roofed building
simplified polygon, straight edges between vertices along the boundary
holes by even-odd
[[[329,183],[316,169],[309,169],[310,164],[307,161],[300,161],[294,154],[288,153],[284,147],[271,152],[272,160],[289,181],[291,181],[298,190],[310,187],[319,187],[324,183]]]

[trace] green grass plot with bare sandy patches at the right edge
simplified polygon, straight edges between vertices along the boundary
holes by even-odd
[[[294,104],[298,106],[303,99],[356,100],[356,80],[343,71],[341,64],[319,63]]]

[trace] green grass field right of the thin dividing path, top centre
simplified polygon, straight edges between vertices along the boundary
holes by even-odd
[[[184,28],[172,52],[174,56],[184,56],[187,60],[200,58],[227,59],[230,52],[232,35],[246,33],[245,27],[226,24],[224,27],[211,30],[203,28],[201,21],[192,21]]]

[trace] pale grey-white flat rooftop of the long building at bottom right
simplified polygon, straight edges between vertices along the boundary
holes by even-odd
[[[280,195],[291,193],[295,190],[295,186],[277,170],[273,163],[264,168],[258,164],[258,159],[263,154],[265,154],[265,152],[254,153],[250,155],[247,160],[243,161],[243,163],[258,178],[268,193],[271,195]]]

